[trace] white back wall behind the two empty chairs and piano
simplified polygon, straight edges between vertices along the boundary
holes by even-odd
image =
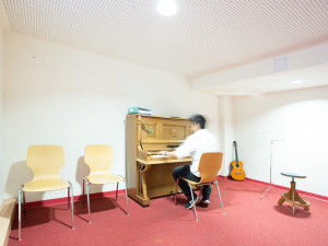
[[[218,97],[192,91],[172,73],[109,59],[17,35],[4,35],[3,176],[4,197],[17,196],[32,178],[26,150],[32,144],[60,144],[74,195],[82,192],[86,144],[114,148],[112,171],[125,175],[125,118],[130,106],[154,115],[203,114],[219,138]],[[122,186],[120,188],[124,188]],[[103,190],[114,190],[109,186]],[[92,192],[99,192],[94,186]],[[66,191],[28,195],[27,201],[65,197]]]

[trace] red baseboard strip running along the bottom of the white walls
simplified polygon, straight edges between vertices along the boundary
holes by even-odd
[[[222,175],[219,175],[218,177],[219,178],[230,178],[230,176],[222,176]],[[260,181],[260,180],[253,179],[253,178],[246,178],[245,180],[257,183],[257,184],[260,184],[263,186],[269,185],[269,183]],[[286,191],[290,190],[290,187],[278,186],[278,185],[273,185],[273,184],[272,184],[272,186],[274,186],[276,188],[281,189],[281,190],[286,190]],[[301,195],[307,196],[307,197],[316,198],[316,199],[328,202],[328,197],[325,197],[325,196],[320,196],[317,194],[312,194],[312,192],[307,192],[307,191],[303,191],[303,190],[298,190],[298,189],[297,189],[297,192]],[[115,196],[115,194],[116,194],[115,190],[97,192],[97,194],[90,194],[90,199],[95,199],[95,198],[101,198],[101,197],[110,197],[110,196]],[[124,194],[125,194],[125,189],[118,190],[118,195],[124,195]],[[84,195],[84,198],[86,200],[86,195]],[[82,201],[82,195],[74,196],[74,201]],[[59,203],[65,203],[65,202],[68,202],[67,197],[49,199],[49,200],[40,200],[40,201],[31,201],[31,202],[26,202],[26,209],[59,204]]]

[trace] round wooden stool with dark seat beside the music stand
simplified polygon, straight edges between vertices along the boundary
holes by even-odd
[[[306,199],[300,197],[300,195],[295,189],[296,183],[294,181],[294,178],[306,178],[306,175],[297,174],[293,172],[282,172],[281,175],[292,177],[292,181],[291,181],[291,190],[288,191],[286,194],[281,195],[278,204],[281,206],[284,201],[290,202],[293,206],[293,214],[295,214],[295,206],[303,207],[305,210],[308,211],[309,202]]]

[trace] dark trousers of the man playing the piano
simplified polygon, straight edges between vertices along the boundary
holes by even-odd
[[[184,178],[187,178],[192,181],[200,181],[200,177],[197,177],[196,175],[194,175],[190,172],[189,165],[175,167],[172,172],[172,175],[173,175],[175,181],[177,180],[178,177],[184,177]],[[186,183],[183,179],[179,179],[178,185],[179,185],[180,189],[184,191],[185,196],[188,198],[188,201],[190,201],[191,194],[190,194],[190,188],[188,186],[188,183]],[[201,195],[204,200],[209,200],[210,195],[211,195],[211,186],[210,185],[203,186]],[[194,198],[196,198],[195,192],[194,192]]]

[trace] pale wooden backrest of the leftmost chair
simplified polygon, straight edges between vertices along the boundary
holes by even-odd
[[[33,179],[57,178],[63,164],[60,145],[32,145],[27,149],[26,165],[33,171]]]

